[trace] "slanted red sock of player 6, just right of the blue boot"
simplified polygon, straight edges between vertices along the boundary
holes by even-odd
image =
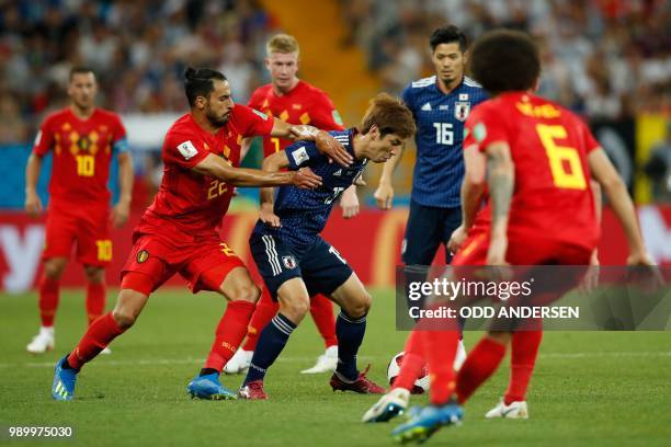
[[[505,356],[505,345],[484,337],[473,348],[457,374],[457,400],[464,403],[499,367]]]

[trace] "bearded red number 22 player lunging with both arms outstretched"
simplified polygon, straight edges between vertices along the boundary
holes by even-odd
[[[130,328],[149,295],[175,273],[189,280],[193,293],[218,291],[229,301],[205,365],[186,389],[201,399],[235,399],[236,393],[219,382],[219,374],[247,333],[259,289],[218,234],[234,186],[321,184],[309,170],[265,173],[237,168],[242,138],[271,135],[315,140],[334,161],[343,165],[352,162],[326,131],[292,126],[234,104],[230,85],[218,71],[189,68],[184,90],[191,113],[179,118],[166,135],[163,179],[135,228],[116,307],[95,320],[75,349],[56,365],[52,387],[56,400],[72,399],[81,367]]]

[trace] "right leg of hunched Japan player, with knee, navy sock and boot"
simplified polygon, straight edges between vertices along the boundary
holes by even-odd
[[[366,316],[373,301],[355,273],[333,293],[331,299],[340,306],[336,320],[338,336],[338,367],[331,376],[333,391],[354,391],[364,394],[383,394],[385,389],[366,378],[366,368],[360,374],[356,354],[366,332]]]

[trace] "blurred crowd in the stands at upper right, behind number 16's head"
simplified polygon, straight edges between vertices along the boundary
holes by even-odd
[[[341,0],[345,43],[368,54],[387,90],[431,73],[431,30],[454,23],[475,38],[512,27],[541,44],[539,93],[590,118],[671,112],[668,0]],[[378,14],[379,12],[379,14]],[[419,38],[419,45],[418,45]]]

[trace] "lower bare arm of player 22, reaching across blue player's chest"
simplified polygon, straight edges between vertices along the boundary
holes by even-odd
[[[208,153],[193,171],[209,175],[232,186],[281,186],[294,185],[315,188],[321,185],[321,177],[309,168],[291,172],[263,172],[258,169],[234,168],[214,153]]]

